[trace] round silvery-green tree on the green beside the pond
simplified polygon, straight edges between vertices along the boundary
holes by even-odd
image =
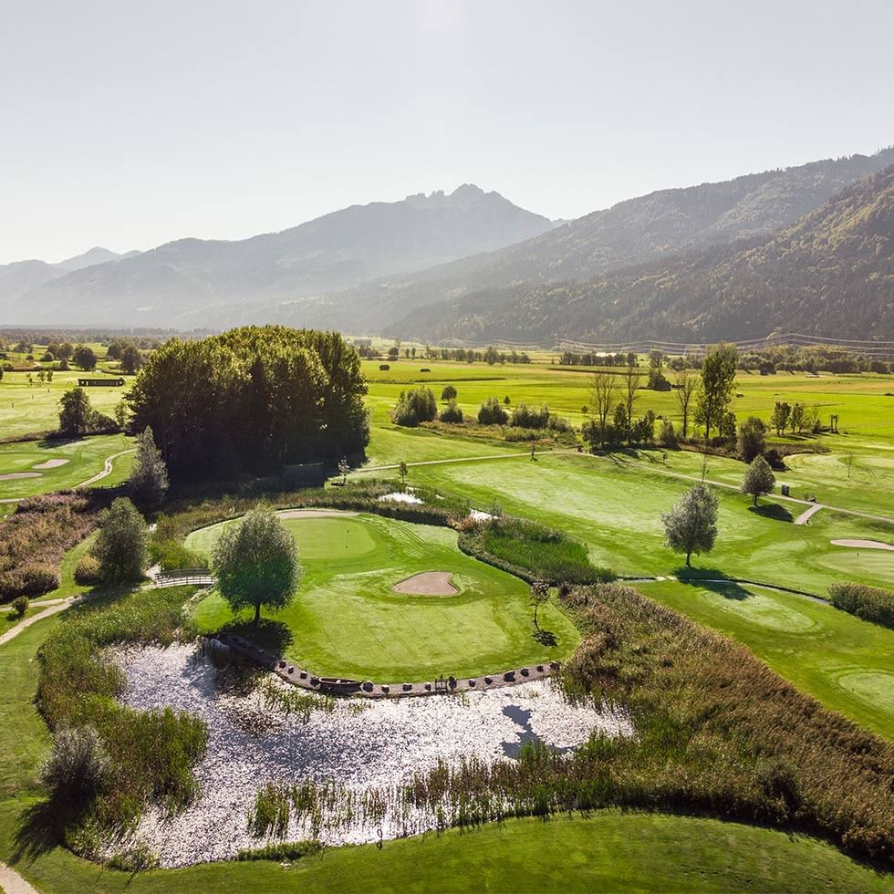
[[[286,525],[269,510],[256,509],[229,525],[213,550],[217,588],[234,611],[286,608],[301,579],[298,547]]]

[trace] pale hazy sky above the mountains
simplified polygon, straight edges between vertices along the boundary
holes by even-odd
[[[0,263],[868,154],[892,34],[890,0],[0,0]]]

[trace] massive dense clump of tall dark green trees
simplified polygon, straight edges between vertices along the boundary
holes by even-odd
[[[153,351],[127,400],[172,481],[336,463],[369,442],[357,351],[335,332],[244,327]]]

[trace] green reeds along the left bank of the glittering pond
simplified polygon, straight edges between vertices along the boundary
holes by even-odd
[[[76,815],[60,815],[59,833],[80,852],[95,856],[103,836],[132,828],[150,802],[174,812],[198,794],[192,768],[205,751],[205,724],[170,708],[143,712],[122,705],[123,674],[102,652],[190,638],[183,604],[192,592],[143,590],[111,605],[76,609],[39,651],[36,703],[50,729],[92,728],[109,757],[101,789]]]

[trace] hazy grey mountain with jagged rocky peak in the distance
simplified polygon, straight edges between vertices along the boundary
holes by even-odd
[[[497,192],[466,184],[449,195],[353,205],[281,233],[236,242],[181,239],[84,267],[36,287],[21,307],[0,297],[0,319],[171,326],[269,318],[255,307],[492,251],[551,226]]]

